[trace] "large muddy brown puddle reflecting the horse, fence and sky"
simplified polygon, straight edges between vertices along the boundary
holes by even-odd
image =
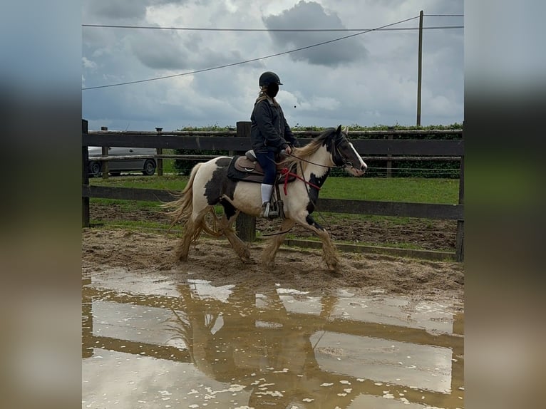
[[[83,286],[82,408],[463,408],[463,314],[349,290]]]

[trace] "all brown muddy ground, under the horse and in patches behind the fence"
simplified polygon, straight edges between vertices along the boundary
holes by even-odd
[[[143,211],[135,214],[121,214],[115,205],[91,207],[91,219],[164,219],[163,214]],[[418,223],[418,222],[416,222]],[[411,232],[391,229],[392,242],[418,242],[422,248],[445,249],[445,237],[453,240],[455,226],[448,222],[421,222],[415,224]],[[425,225],[426,223],[426,225]],[[271,223],[259,220],[257,229],[267,232]],[[324,223],[327,226],[327,223]],[[334,239],[358,242],[366,236],[366,242],[385,242],[385,226],[377,227],[372,222],[339,222],[329,226]],[[445,301],[463,310],[464,271],[463,264],[455,262],[431,262],[419,259],[390,257],[379,254],[354,254],[341,252],[343,267],[339,272],[326,269],[320,250],[282,247],[277,254],[273,270],[264,269],[259,264],[263,242],[250,246],[251,262],[242,262],[232,251],[225,239],[202,237],[190,249],[188,262],[175,260],[175,246],[180,233],[150,232],[118,229],[111,227],[91,227],[82,233],[83,273],[102,271],[108,267],[125,267],[138,271],[160,271],[161,274],[185,279],[212,281],[212,285],[227,285],[245,282],[259,291],[281,283],[284,288],[309,291],[309,294],[334,294],[339,289],[349,289],[361,295],[398,294],[411,299]],[[305,237],[307,232],[299,229],[293,232]]]

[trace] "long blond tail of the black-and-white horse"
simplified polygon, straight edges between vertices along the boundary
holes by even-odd
[[[171,219],[169,230],[172,229],[172,227],[177,224],[178,222],[181,222],[182,224],[187,224],[188,220],[190,220],[190,217],[193,212],[193,182],[195,180],[195,175],[197,175],[197,171],[201,167],[202,162],[197,163],[192,168],[192,171],[190,172],[190,178],[187,180],[187,185],[182,190],[181,193],[174,195],[177,197],[176,200],[173,200],[172,202],[167,202],[162,205],[165,209],[172,209],[166,214]],[[213,226],[209,227],[207,223],[205,222],[205,218],[201,219],[199,222],[199,226],[195,226],[197,228],[191,229],[192,230],[192,240],[196,240],[199,236],[201,231],[204,231],[212,236],[219,236],[220,232],[216,229],[216,221],[217,217],[215,214],[214,207],[210,208],[210,212],[212,212],[212,223]]]

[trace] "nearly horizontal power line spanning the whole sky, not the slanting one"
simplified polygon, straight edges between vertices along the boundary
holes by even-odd
[[[381,29],[219,29],[219,28],[196,28],[196,27],[160,27],[160,26],[117,26],[112,24],[82,24],[82,27],[102,29],[143,29],[143,30],[177,30],[177,31],[242,31],[242,32],[348,32],[348,31],[403,31],[418,30],[418,27],[396,27]],[[463,29],[464,26],[434,26],[423,27],[423,30]]]

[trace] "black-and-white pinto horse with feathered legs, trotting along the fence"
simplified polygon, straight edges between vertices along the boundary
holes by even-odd
[[[347,134],[348,128],[341,130],[341,125],[326,128],[310,143],[294,147],[291,154],[277,162],[279,177],[274,196],[277,196],[282,222],[262,252],[261,262],[267,268],[274,266],[277,251],[295,224],[313,231],[321,239],[322,258],[329,269],[336,271],[341,266],[329,233],[315,222],[311,214],[331,168],[344,167],[346,172],[356,177],[366,171],[366,163]],[[239,212],[259,216],[262,210],[260,183],[259,180],[247,181],[230,175],[235,159],[237,157],[220,156],[197,163],[184,190],[175,196],[175,200],[163,205],[172,219],[171,228],[178,222],[183,226],[176,249],[180,262],[187,262],[190,245],[197,242],[202,232],[214,237],[227,237],[242,261],[251,260],[249,247],[237,237],[233,223]],[[292,181],[289,181],[289,176],[292,176]],[[279,183],[282,183],[280,189]],[[223,207],[222,217],[217,216],[215,205]]]

